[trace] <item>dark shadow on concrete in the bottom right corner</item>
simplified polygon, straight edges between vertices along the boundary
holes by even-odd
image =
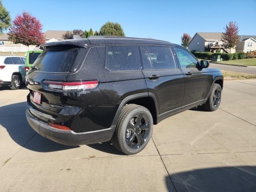
[[[170,180],[171,178],[171,180]],[[177,192],[255,192],[256,166],[196,169],[166,176],[166,188]]]

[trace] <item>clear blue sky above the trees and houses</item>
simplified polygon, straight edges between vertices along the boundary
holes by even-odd
[[[121,24],[129,37],[180,44],[184,32],[223,32],[236,21],[240,35],[256,35],[256,0],[3,0],[12,19],[30,12],[46,30],[100,30],[107,21]]]

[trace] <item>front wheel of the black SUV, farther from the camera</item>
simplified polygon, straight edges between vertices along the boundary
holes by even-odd
[[[207,111],[216,111],[220,106],[221,94],[221,86],[214,83],[206,103],[202,104],[202,108]]]

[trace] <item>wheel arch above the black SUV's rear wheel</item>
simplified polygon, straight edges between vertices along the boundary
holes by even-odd
[[[144,92],[144,93],[138,93],[138,94],[127,96],[121,101],[120,105],[118,106],[118,110],[116,111],[116,115],[114,116],[112,126],[116,126],[120,112],[126,104],[138,104],[146,107],[152,114],[154,124],[157,123],[158,104],[157,104],[156,96],[154,95],[154,93]]]

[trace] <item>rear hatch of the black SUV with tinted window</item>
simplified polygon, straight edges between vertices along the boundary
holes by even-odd
[[[68,102],[68,94],[50,90],[43,82],[64,82],[68,74],[76,70],[82,62],[85,50],[86,48],[73,45],[46,46],[26,78],[26,85],[30,91],[28,105],[46,114],[57,116]],[[40,101],[34,99],[35,94],[37,98],[40,95]]]

